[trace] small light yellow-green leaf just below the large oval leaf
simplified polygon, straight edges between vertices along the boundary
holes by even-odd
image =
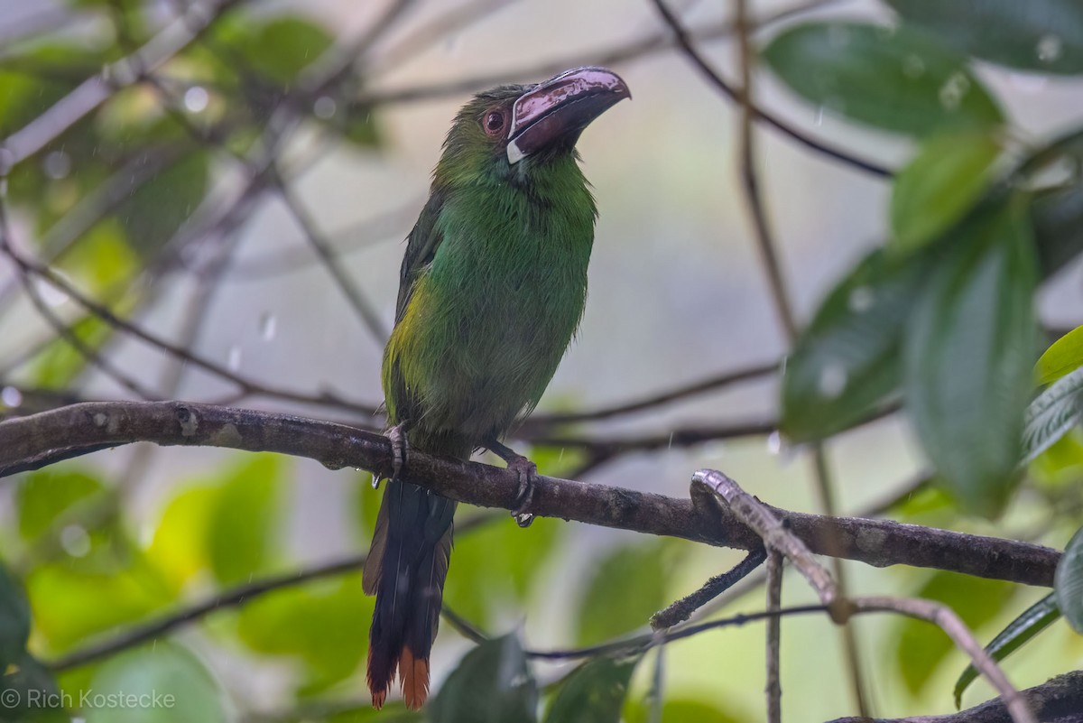
[[[939,237],[969,211],[1001,155],[991,132],[944,133],[922,144],[895,178],[891,249],[912,251]]]

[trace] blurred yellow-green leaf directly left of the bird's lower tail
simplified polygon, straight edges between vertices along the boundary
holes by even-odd
[[[237,629],[251,649],[304,661],[302,693],[311,694],[356,670],[368,649],[373,599],[360,575],[348,575],[257,597],[242,609]]]

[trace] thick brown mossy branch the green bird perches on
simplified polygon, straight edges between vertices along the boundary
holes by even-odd
[[[63,441],[63,446],[57,446]],[[325,466],[363,468],[390,476],[391,445],[379,434],[289,415],[182,402],[84,403],[0,423],[0,476],[40,469],[133,442],[275,451]],[[413,451],[402,474],[445,497],[510,510],[518,481],[498,468]],[[532,512],[591,525],[754,550],[759,536],[714,495],[694,485],[692,499],[540,477]],[[818,554],[884,567],[911,565],[1049,587],[1060,553],[1015,540],[965,535],[883,520],[828,517],[768,508]]]

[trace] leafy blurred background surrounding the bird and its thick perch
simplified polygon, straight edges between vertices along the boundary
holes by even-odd
[[[379,426],[401,253],[383,241],[416,215],[451,110],[497,81],[611,64],[637,101],[580,146],[602,209],[591,311],[519,442],[546,474],[681,494],[706,463],[784,508],[1067,543],[1053,592],[849,571],[858,589],[944,602],[984,639],[1003,631],[999,655],[1027,642],[1005,663],[1020,687],[1080,667],[1079,3],[748,3],[762,19],[746,58],[754,98],[774,129],[757,162],[779,238],[760,240],[788,257],[780,276],[794,303],[751,273],[729,149],[736,106],[686,62],[682,27],[657,3],[577,15],[364,4],[0,6],[4,416],[183,397]],[[696,47],[722,82],[738,78],[731,3],[688,4],[680,22]],[[187,41],[142,66],[140,49],[169,34]],[[565,55],[542,50],[552,42]],[[107,89],[100,103],[41,147],[21,145],[88,83]],[[1056,124],[1028,104],[1053,108]],[[613,129],[625,122],[640,124]],[[807,319],[792,343],[772,304]],[[635,413],[619,408],[640,399]],[[576,416],[595,409],[605,413]],[[818,472],[793,462],[824,449],[832,463]],[[3,481],[0,683],[18,705],[0,720],[759,718],[758,631],[582,663],[531,655],[638,631],[735,557],[553,520],[524,533],[468,509],[445,600],[492,636],[474,646],[445,622],[427,711],[370,711],[371,601],[355,555],[378,507],[368,482],[272,456],[144,448]],[[793,587],[792,602],[808,597]],[[722,603],[705,615],[762,606]],[[86,655],[157,621],[168,629]],[[786,626],[783,685],[800,701],[787,720],[853,712],[826,620]],[[973,680],[930,627],[858,631],[880,713],[944,711]],[[110,709],[81,701],[88,691],[177,705]]]

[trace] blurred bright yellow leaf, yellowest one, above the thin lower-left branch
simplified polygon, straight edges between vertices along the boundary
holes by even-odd
[[[207,545],[200,542],[208,539],[207,529],[218,496],[218,487],[182,489],[170,500],[154,530],[146,556],[175,592],[210,566]]]

